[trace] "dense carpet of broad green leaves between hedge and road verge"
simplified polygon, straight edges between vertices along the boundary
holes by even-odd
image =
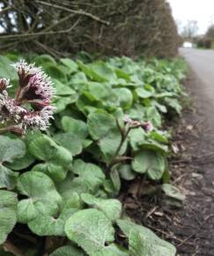
[[[10,65],[19,58],[0,56],[11,94],[18,77]],[[46,133],[0,136],[1,255],[175,255],[115,198],[123,184],[144,177],[182,200],[168,184],[171,135],[163,124],[181,115],[184,62],[83,53],[26,59],[53,78],[55,119]]]

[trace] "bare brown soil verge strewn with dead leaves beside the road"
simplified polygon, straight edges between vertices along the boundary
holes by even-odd
[[[174,122],[173,149],[179,152],[170,161],[171,183],[186,195],[183,205],[145,196],[152,187],[144,181],[135,181],[123,202],[132,219],[173,243],[177,256],[214,256],[213,102],[194,72],[186,87],[192,102]]]

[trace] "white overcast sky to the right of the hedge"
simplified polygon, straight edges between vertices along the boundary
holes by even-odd
[[[204,34],[214,23],[214,0],[167,0],[173,9],[173,17],[184,26],[188,19],[198,21],[198,34]]]

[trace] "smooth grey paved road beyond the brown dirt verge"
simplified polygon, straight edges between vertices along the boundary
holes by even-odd
[[[180,52],[201,82],[201,93],[214,107],[214,50],[180,49]]]

